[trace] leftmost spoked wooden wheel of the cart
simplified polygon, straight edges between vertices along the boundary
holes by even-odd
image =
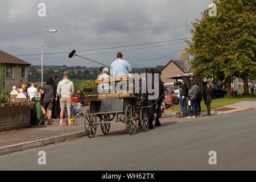
[[[92,117],[92,115],[89,115],[89,109],[87,109],[84,117],[84,128],[85,128],[86,135],[89,138],[93,138],[94,135],[96,134],[97,125],[93,124],[93,122],[94,122],[94,118]]]

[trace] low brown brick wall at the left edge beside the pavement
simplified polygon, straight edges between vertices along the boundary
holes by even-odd
[[[30,106],[26,104],[0,104],[0,132],[30,126]]]

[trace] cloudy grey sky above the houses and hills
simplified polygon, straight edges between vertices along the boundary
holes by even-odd
[[[46,17],[38,16],[40,2],[46,3]],[[212,1],[1,0],[0,49],[12,55],[40,54],[41,34],[49,28],[55,28],[58,32],[44,35],[45,53],[190,38],[191,22],[196,18],[201,18],[200,13],[208,8],[210,2]],[[175,44],[153,47],[171,43]],[[164,65],[170,59],[180,59],[180,52],[174,55],[170,54],[185,47],[185,43],[176,41],[79,52],[79,54],[109,65],[115,59],[115,54],[118,51],[123,51],[124,59],[129,61],[133,67],[149,67]],[[136,48],[145,49],[124,51]],[[146,61],[166,55],[170,56]],[[45,55],[44,65],[101,66],[78,57],[69,59],[67,56],[67,53]],[[32,65],[41,64],[40,55],[20,58]],[[138,61],[146,62],[133,63]]]

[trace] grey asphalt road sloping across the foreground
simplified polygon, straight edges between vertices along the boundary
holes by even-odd
[[[0,170],[255,170],[256,110],[87,137],[0,156]],[[46,165],[38,152],[46,152]],[[208,163],[216,151],[217,164]]]

